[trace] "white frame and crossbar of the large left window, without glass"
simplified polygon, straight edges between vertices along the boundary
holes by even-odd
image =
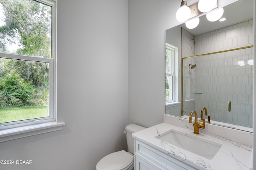
[[[7,59],[18,59],[23,61],[38,61],[38,62],[45,62],[49,63],[49,117],[41,117],[41,118],[35,118],[35,119],[26,119],[21,121],[14,121],[14,122],[7,122],[7,123],[0,123],[0,130],[4,129],[12,129],[22,126],[29,126],[29,125],[35,125],[39,123],[49,123],[49,122],[56,122],[57,117],[57,101],[56,101],[56,38],[57,38],[57,3],[53,0],[35,0],[38,3],[46,4],[48,6],[51,6],[52,8],[52,20],[51,20],[51,58],[44,58],[44,57],[36,57],[36,56],[28,56],[28,55],[18,55],[18,54],[12,54],[12,53],[1,53],[1,58],[7,58]],[[31,128],[31,127],[30,127]],[[0,137],[1,137],[0,133]]]

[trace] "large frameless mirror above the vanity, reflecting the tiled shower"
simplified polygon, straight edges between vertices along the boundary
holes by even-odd
[[[224,7],[226,21],[202,15],[194,29],[166,30],[166,114],[206,107],[210,123],[252,132],[253,10],[239,0]]]

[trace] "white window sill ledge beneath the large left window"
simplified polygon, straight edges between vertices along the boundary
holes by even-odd
[[[0,142],[62,130],[64,122],[47,122],[36,125],[0,130]]]

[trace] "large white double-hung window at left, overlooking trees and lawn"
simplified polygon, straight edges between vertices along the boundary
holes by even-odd
[[[55,120],[56,2],[0,1],[0,129]]]

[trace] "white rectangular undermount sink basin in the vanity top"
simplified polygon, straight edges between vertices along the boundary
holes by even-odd
[[[176,131],[174,129],[167,131],[156,138],[207,159],[212,159],[222,146],[220,143]]]

